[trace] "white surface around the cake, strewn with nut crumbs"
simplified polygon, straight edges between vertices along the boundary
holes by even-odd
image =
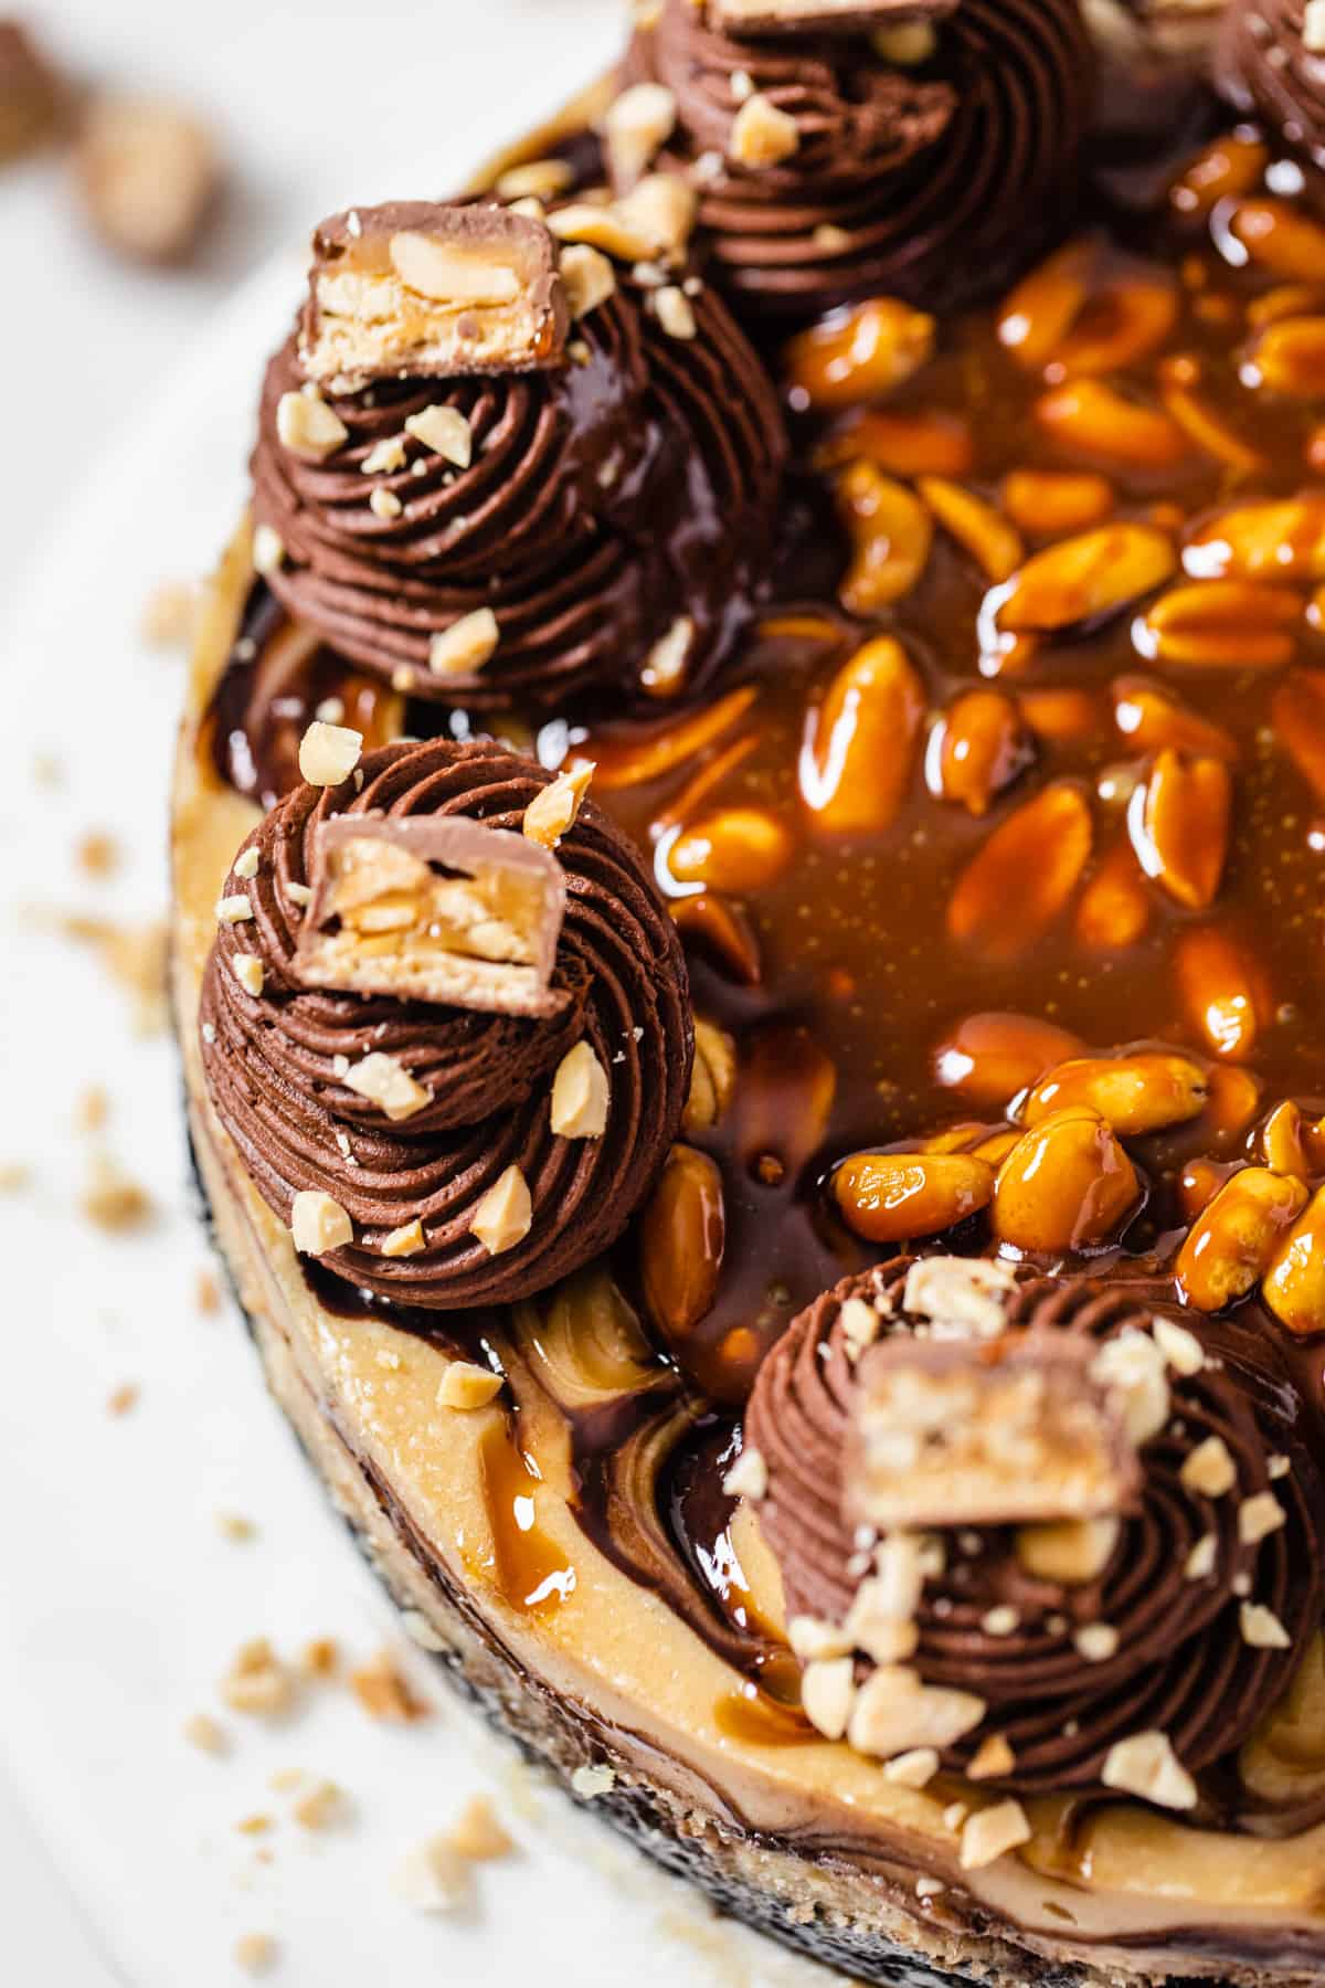
[[[191,1306],[205,1250],[185,1197],[169,1048],[135,1046],[91,964],[22,924],[32,901],[111,905],[133,918],[163,909],[163,771],[181,674],[135,646],[131,620],[155,580],[211,563],[242,491],[250,412],[232,410],[256,396],[254,336],[274,340],[280,324],[240,328],[250,388],[236,394],[234,368],[215,350],[236,282],[298,247],[326,211],[445,191],[427,181],[433,145],[455,159],[507,137],[507,105],[528,105],[540,78],[572,80],[578,52],[590,72],[618,12],[622,0],[30,6],[79,78],[203,109],[232,179],[205,252],[161,274],[87,239],[60,157],[0,173],[0,668],[12,746],[0,781],[0,1163],[18,1151],[36,1159],[34,1189],[0,1197],[6,1988],[240,1980],[228,1952],[252,1928],[280,1938],[272,1978],[290,1988],[358,1988],[366,1976],[505,1988],[530,1970],[606,1984],[620,1978],[626,1944],[634,1988],[810,1980],[757,1942],[723,1934],[711,1946],[677,1887],[650,1893],[632,1918],[636,1865],[608,1865],[598,1831],[560,1803],[532,1823],[507,1805],[524,1859],[491,1891],[485,1877],[477,1928],[433,1938],[431,1924],[401,1920],[397,1932],[391,1920],[383,1944],[364,1952],[354,1928],[375,1922],[397,1845],[447,1821],[495,1771],[453,1738],[455,1714],[415,1741],[368,1734],[340,1704],[314,1708],[288,1738],[244,1732],[240,1757],[222,1765],[183,1745],[181,1718],[215,1708],[215,1680],[242,1638],[272,1630],[288,1646],[328,1630],[368,1654],[389,1616],[262,1400],[234,1320],[205,1322]],[[403,185],[401,161],[417,161]],[[268,284],[262,312],[280,296]],[[195,358],[205,350],[215,398]],[[183,400],[167,388],[181,364],[193,366]],[[20,634],[10,616],[24,592]],[[54,797],[34,795],[36,746],[66,763]],[[72,847],[101,825],[129,825],[131,847],[123,877],[91,887]],[[75,1213],[74,1101],[93,1081],[113,1097],[109,1143],[159,1199],[159,1225],[141,1241],[97,1241]],[[115,1421],[105,1402],[121,1382],[141,1382],[143,1396]],[[256,1517],[252,1547],[217,1535],[219,1507]],[[163,1567],[175,1565],[181,1586],[163,1604]],[[240,1863],[234,1819],[280,1807],[266,1775],[290,1759],[352,1781],[362,1827],[296,1843],[302,1855],[256,1871]],[[584,1883],[598,1899],[580,1897]],[[556,1922],[560,1899],[578,1901],[578,1922]]]

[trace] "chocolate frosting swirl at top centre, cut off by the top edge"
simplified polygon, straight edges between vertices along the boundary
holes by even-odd
[[[898,68],[860,34],[719,34],[689,0],[638,30],[626,80],[675,95],[660,163],[697,187],[737,306],[809,318],[880,290],[956,306],[1063,223],[1093,87],[1077,0],[959,0],[934,38]],[[773,165],[731,157],[751,85],[795,123]]]

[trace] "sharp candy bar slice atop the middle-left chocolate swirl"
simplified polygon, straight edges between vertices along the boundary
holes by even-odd
[[[556,857],[467,815],[342,815],[314,837],[294,972],[306,986],[550,1016],[566,879]]]

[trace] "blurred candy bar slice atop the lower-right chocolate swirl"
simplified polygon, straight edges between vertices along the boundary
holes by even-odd
[[[1047,1332],[880,1340],[860,1362],[844,1517],[884,1533],[1126,1509],[1140,1465],[1095,1352]]]

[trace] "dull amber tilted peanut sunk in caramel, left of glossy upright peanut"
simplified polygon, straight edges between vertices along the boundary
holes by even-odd
[[[1091,807],[1055,779],[993,829],[948,901],[948,930],[987,958],[1015,960],[1063,914],[1091,859]]]

